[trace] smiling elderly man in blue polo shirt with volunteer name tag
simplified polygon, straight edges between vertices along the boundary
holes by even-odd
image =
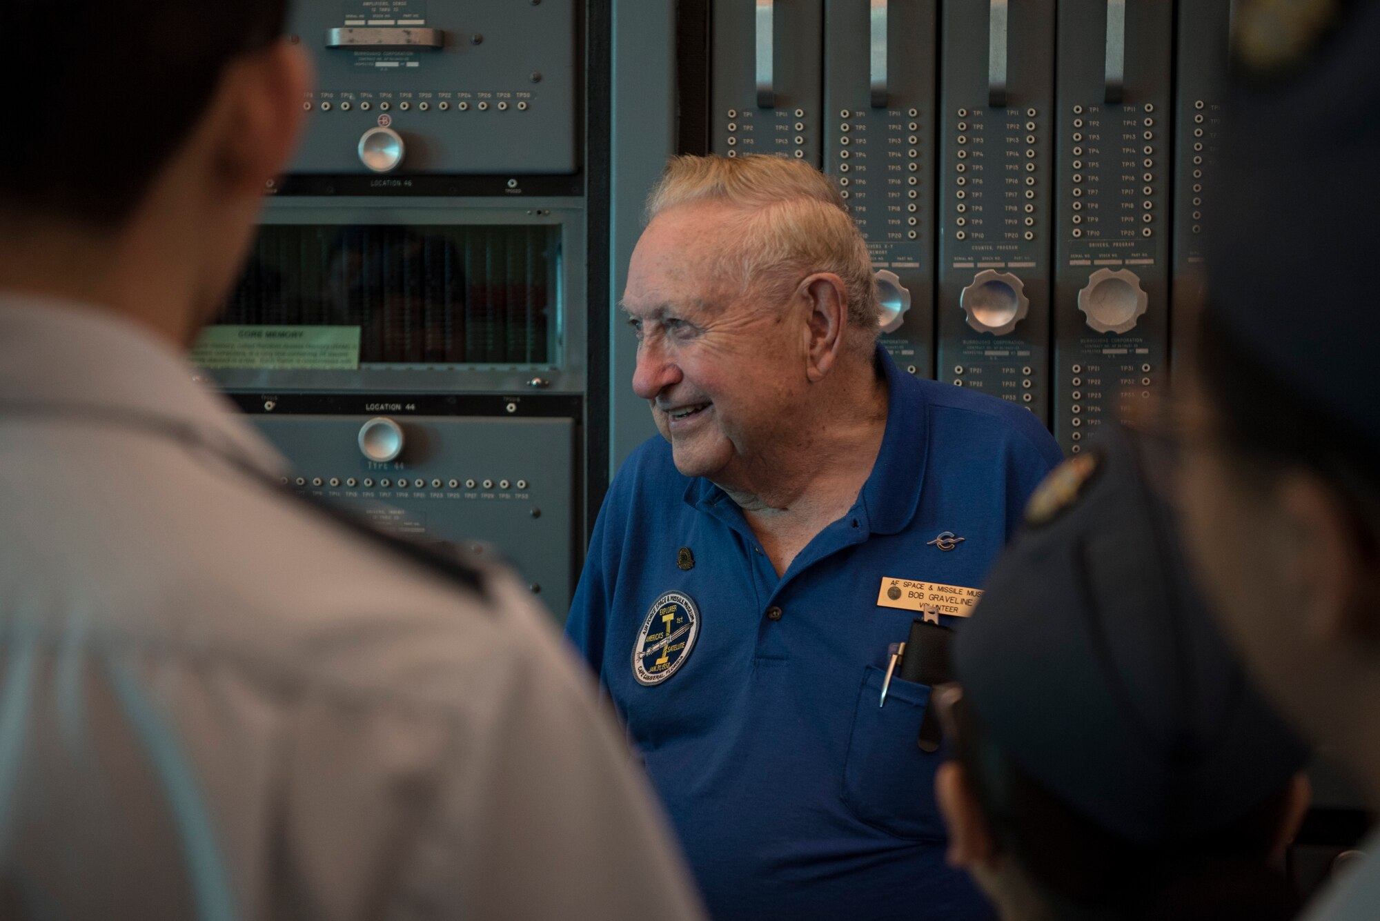
[[[929,688],[1058,460],[1014,404],[900,372],[834,186],[776,157],[673,160],[624,307],[660,438],[624,465],[569,633],[661,791],[716,918],[989,917],[944,864]]]

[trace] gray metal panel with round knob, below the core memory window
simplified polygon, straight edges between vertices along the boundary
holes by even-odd
[[[406,447],[396,462],[374,463],[357,444],[370,418],[253,419],[291,462],[293,481],[305,480],[304,492],[414,539],[491,543],[564,622],[574,593],[574,422],[391,415],[403,427]],[[352,477],[355,488],[346,484]],[[402,477],[410,481],[404,489],[397,488]],[[322,485],[313,485],[316,478]],[[364,487],[366,478],[374,488]],[[421,488],[417,478],[425,481]],[[432,485],[437,478],[439,488]],[[471,478],[472,488],[465,485]],[[388,488],[384,480],[392,481]]]

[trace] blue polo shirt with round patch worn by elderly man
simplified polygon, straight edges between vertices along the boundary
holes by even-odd
[[[878,598],[883,579],[980,587],[1061,456],[1024,408],[876,361],[876,465],[785,575],[654,437],[604,499],[570,611],[718,921],[992,917],[944,862],[940,756],[916,746],[929,688],[893,678],[878,706],[887,647],[916,616]],[[944,550],[944,532],[963,539]]]

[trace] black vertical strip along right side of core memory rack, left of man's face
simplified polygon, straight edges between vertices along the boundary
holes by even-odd
[[[609,312],[610,201],[613,194],[613,3],[588,0],[585,6],[585,227],[588,270],[585,274],[585,327],[588,342],[585,427],[585,509],[581,539],[573,542],[578,571],[584,547],[593,532],[595,517],[609,491]],[[578,455],[577,455],[578,456]],[[577,517],[578,521],[578,517]]]

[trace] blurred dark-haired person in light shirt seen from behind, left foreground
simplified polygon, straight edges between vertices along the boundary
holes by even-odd
[[[184,358],[301,124],[283,8],[0,4],[0,918],[698,917],[530,593],[282,489]]]

